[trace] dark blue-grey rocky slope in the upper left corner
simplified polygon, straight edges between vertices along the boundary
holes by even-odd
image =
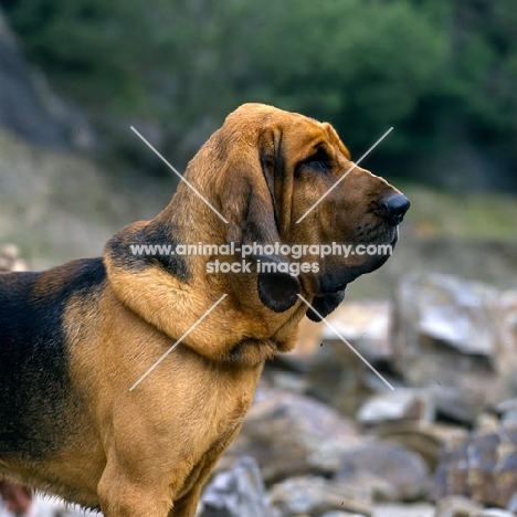
[[[1,10],[0,126],[40,145],[89,149],[95,144],[86,117],[57,97],[25,61]]]

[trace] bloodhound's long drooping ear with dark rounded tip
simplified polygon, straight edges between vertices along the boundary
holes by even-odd
[[[256,146],[234,145],[228,157],[221,199],[223,215],[229,222],[228,243],[240,246],[282,242],[278,229],[283,207],[278,205],[278,199],[281,202],[283,199],[278,192],[285,175],[281,170],[279,137],[278,129],[265,128],[257,136]],[[293,307],[297,302],[299,282],[281,266],[288,266],[287,257],[270,255],[255,258],[261,263],[270,261],[276,270],[274,273],[257,272],[261,302],[276,313]]]

